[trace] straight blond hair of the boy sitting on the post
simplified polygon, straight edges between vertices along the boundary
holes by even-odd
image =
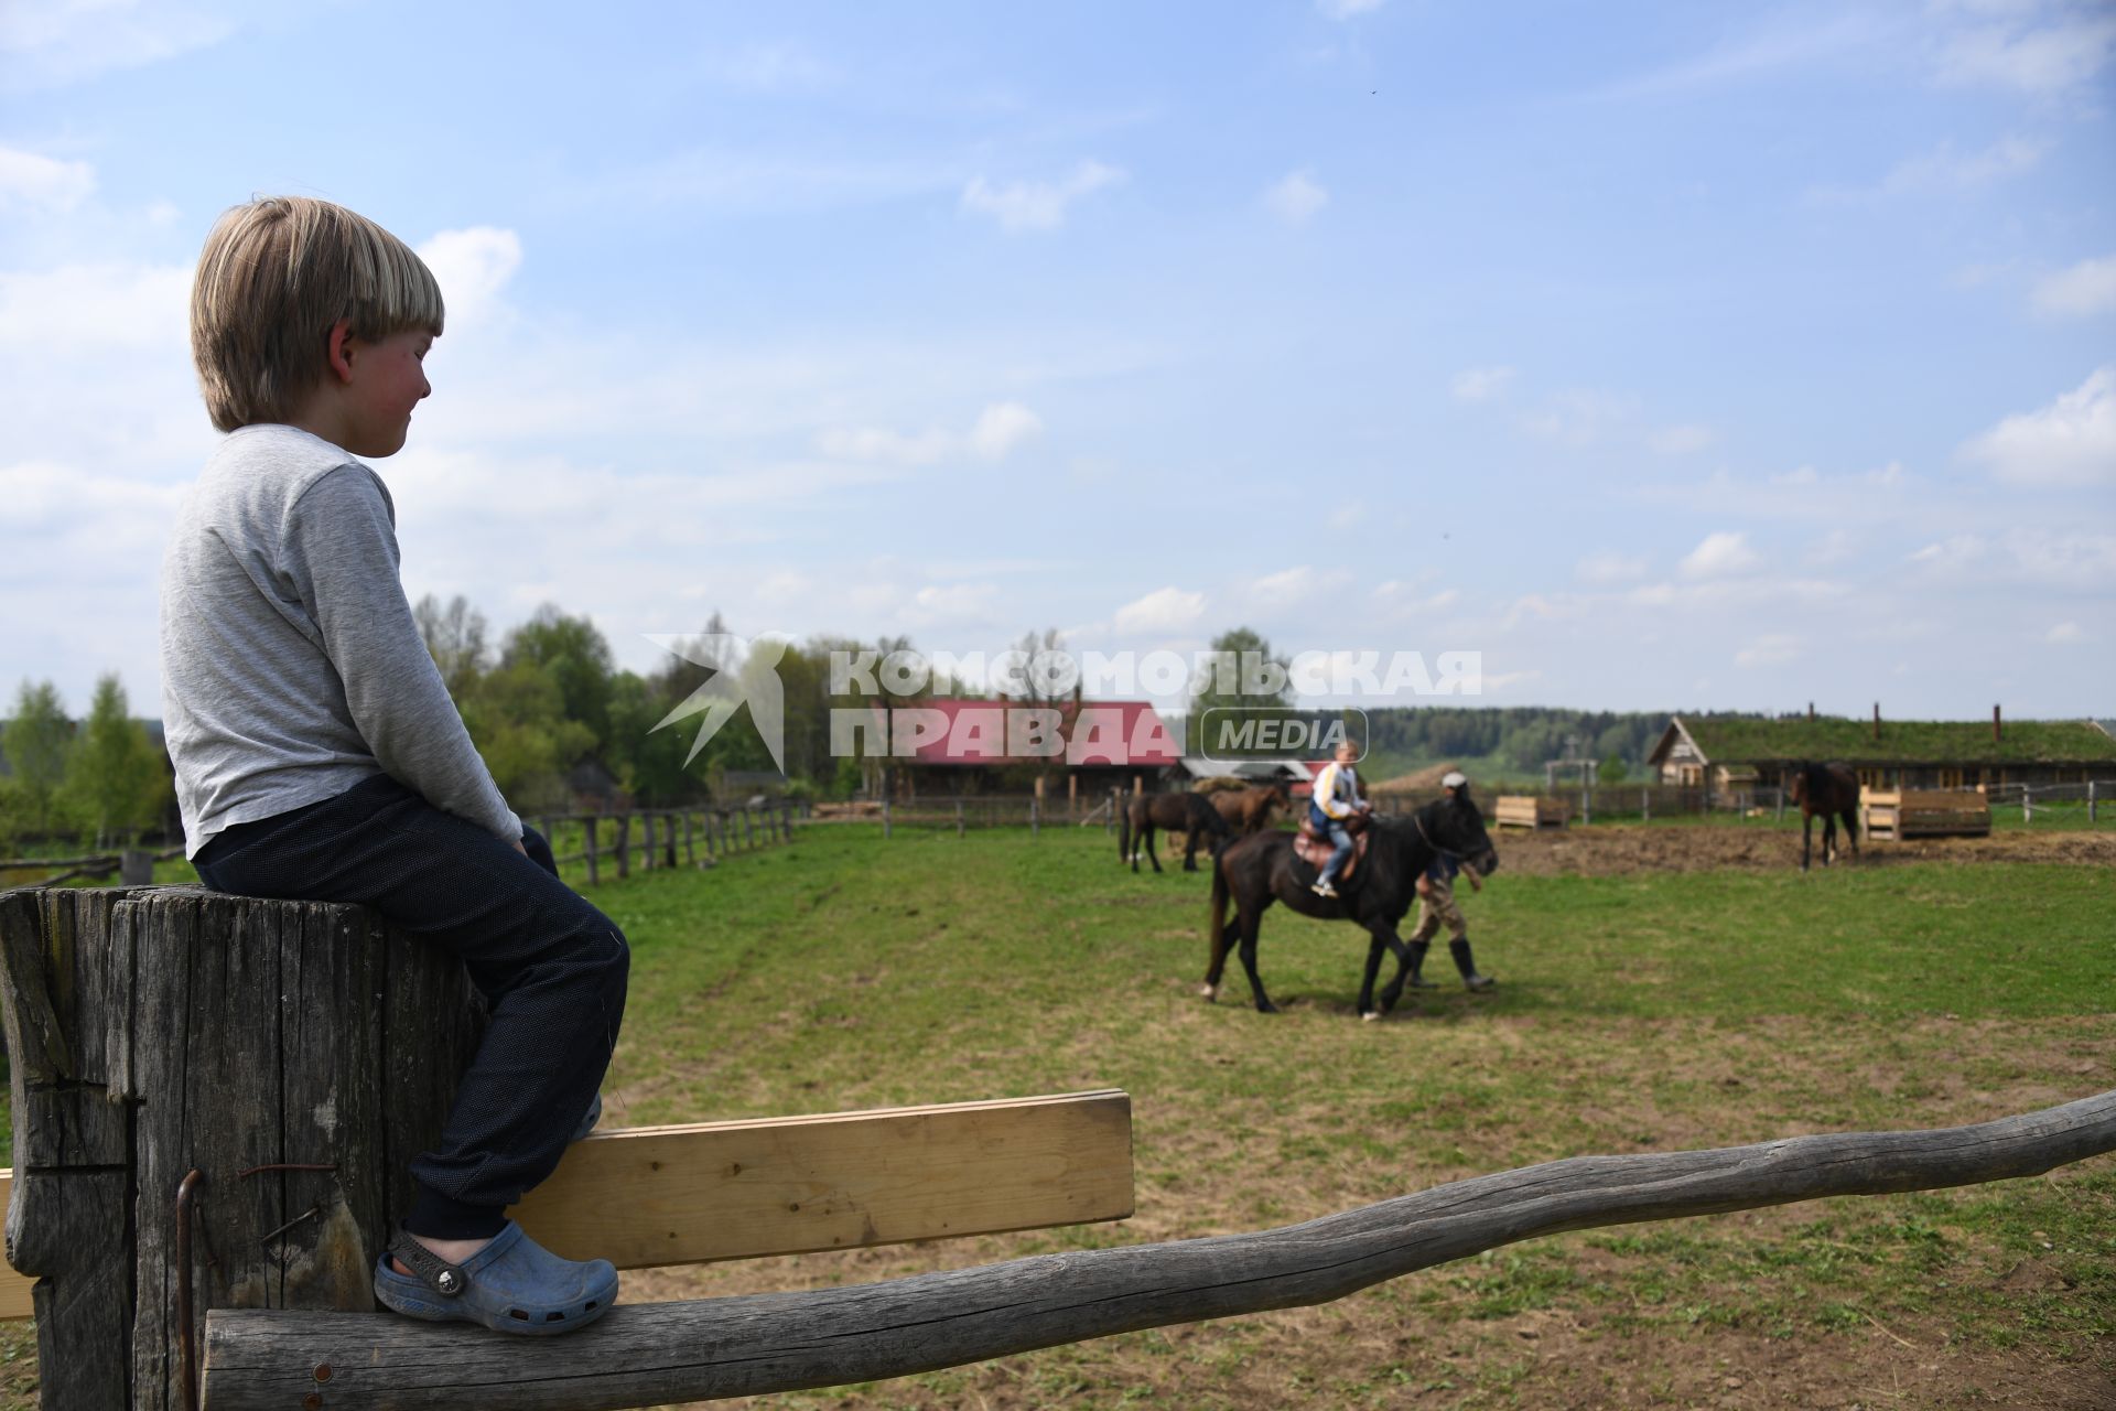
[[[366,341],[440,334],[440,283],[411,245],[366,216],[309,197],[226,212],[190,286],[190,360],[222,432],[290,421],[322,385],[339,319]]]

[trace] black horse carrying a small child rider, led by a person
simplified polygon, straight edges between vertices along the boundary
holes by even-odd
[[[1380,1020],[1403,998],[1403,986],[1422,984],[1420,967],[1426,958],[1428,941],[1403,943],[1397,927],[1403,914],[1418,901],[1418,878],[1437,857],[1452,857],[1458,865],[1490,874],[1498,867],[1498,853],[1483,831],[1483,814],[1471,802],[1469,789],[1456,798],[1435,800],[1407,819],[1375,819],[1373,844],[1365,861],[1358,863],[1352,880],[1337,897],[1314,893],[1316,872],[1293,853],[1293,833],[1257,833],[1229,846],[1212,861],[1212,960],[1204,973],[1204,994],[1219,998],[1219,977],[1227,969],[1227,946],[1242,950],[1242,969],[1248,971],[1248,992],[1263,1013],[1278,1013],[1263,992],[1263,977],[1257,975],[1257,922],[1274,901],[1284,901],[1301,916],[1322,920],[1350,920],[1367,931],[1367,973],[1358,986],[1358,1018]],[[1234,924],[1227,924],[1227,901],[1234,901]],[[1397,977],[1382,990],[1382,1007],[1373,1007],[1373,982],[1382,971],[1382,952],[1397,956]],[[1449,946],[1456,969],[1473,990],[1488,990],[1490,982],[1477,973],[1469,941]]]

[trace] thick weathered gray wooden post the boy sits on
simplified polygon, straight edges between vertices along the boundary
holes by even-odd
[[[0,897],[0,1009],[44,1411],[197,1405],[207,1309],[372,1309],[482,1032],[463,967],[372,912],[199,888]]]

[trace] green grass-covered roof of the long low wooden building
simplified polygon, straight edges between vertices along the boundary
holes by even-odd
[[[1678,715],[1712,764],[1845,759],[1873,764],[2116,764],[2116,736],[2088,719],[1871,719]]]

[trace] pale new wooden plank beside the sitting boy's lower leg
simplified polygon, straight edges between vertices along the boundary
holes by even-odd
[[[620,1269],[1130,1212],[1121,1092],[599,1132],[514,1210],[546,1248]]]

